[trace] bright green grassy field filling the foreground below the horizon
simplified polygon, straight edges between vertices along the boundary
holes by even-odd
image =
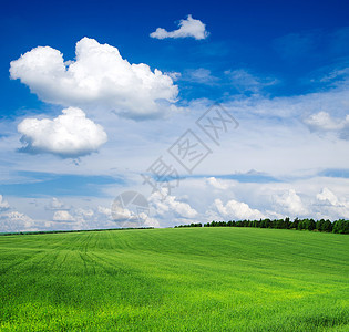
[[[0,331],[349,331],[349,237],[254,228],[0,237]]]

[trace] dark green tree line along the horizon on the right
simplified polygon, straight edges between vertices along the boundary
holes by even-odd
[[[314,219],[298,219],[291,221],[289,218],[285,219],[259,219],[259,220],[239,220],[239,221],[211,221],[207,224],[187,224],[175,226],[175,228],[182,227],[255,227],[255,228],[275,228],[275,229],[298,229],[298,230],[317,230],[336,234],[349,234],[349,220],[339,219],[333,222],[330,220],[317,220]]]

